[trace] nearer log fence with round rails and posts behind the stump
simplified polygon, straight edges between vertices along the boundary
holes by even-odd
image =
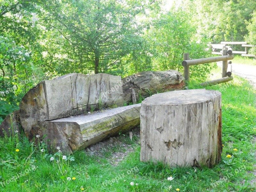
[[[199,65],[199,64],[207,64],[207,63],[218,62],[218,61],[222,61],[222,78],[215,79],[212,81],[207,81],[207,82],[201,83],[200,85],[202,85],[202,86],[215,85],[215,84],[220,84],[220,83],[224,83],[224,82],[233,80],[233,76],[231,76],[232,75],[232,65],[231,65],[232,62],[229,61],[229,60],[234,59],[232,48],[222,45],[221,55],[222,56],[218,56],[218,57],[208,57],[208,58],[190,60],[189,53],[184,53],[182,65],[184,67],[185,80],[187,82],[189,82],[189,66]]]

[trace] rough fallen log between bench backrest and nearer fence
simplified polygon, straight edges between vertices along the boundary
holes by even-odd
[[[167,71],[144,71],[122,79],[124,101],[132,101],[132,89],[134,89],[136,98],[144,98],[153,93],[166,90],[180,90],[185,87],[184,77],[175,70]]]

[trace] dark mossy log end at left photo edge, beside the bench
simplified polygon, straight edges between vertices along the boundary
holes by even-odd
[[[20,111],[16,110],[7,115],[0,125],[0,136],[6,134],[8,137],[21,133]]]

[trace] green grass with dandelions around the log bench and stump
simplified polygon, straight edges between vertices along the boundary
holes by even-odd
[[[215,69],[212,74],[211,78],[218,78],[216,74],[220,74],[220,69]],[[202,88],[193,82],[189,87]],[[138,138],[133,137],[134,140],[130,141],[129,134],[121,134],[120,137],[136,150],[117,166],[108,161],[110,153],[102,158],[86,155],[84,151],[71,155],[62,152],[46,155],[49,152],[43,143],[39,148],[26,138],[5,136],[0,139],[0,191],[154,192],[176,191],[177,188],[195,192],[256,191],[250,183],[255,179],[252,172],[256,164],[256,147],[252,141],[256,134],[256,93],[247,81],[237,76],[229,83],[206,89],[222,93],[224,147],[220,164],[212,168],[170,168],[162,163],[140,162],[140,146],[136,144]],[[65,160],[63,155],[67,156]],[[231,157],[227,158],[227,155]],[[53,161],[50,161],[51,157],[54,157]],[[174,178],[172,181],[167,180],[170,176]],[[67,180],[68,177],[70,180]]]

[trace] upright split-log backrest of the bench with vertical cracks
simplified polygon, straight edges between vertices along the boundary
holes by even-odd
[[[43,136],[47,120],[83,114],[91,108],[123,106],[120,76],[68,74],[45,80],[30,89],[20,102],[20,122],[31,140]]]

